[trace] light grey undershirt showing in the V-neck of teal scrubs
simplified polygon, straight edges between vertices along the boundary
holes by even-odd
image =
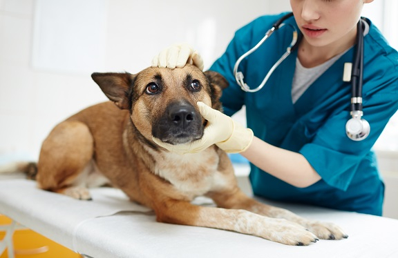
[[[365,22],[365,30],[363,30],[363,36],[368,34],[369,25]],[[348,48],[349,50],[350,48]],[[299,58],[296,58],[296,70],[294,70],[293,84],[292,84],[292,101],[296,103],[297,99],[303,95],[307,88],[310,88],[311,84],[318,79],[323,72],[328,70],[330,66],[333,65],[337,59],[339,59],[345,52],[345,50],[341,54],[337,54],[337,56],[332,57],[325,63],[321,63],[319,66],[315,66],[312,68],[305,68],[301,63]]]

